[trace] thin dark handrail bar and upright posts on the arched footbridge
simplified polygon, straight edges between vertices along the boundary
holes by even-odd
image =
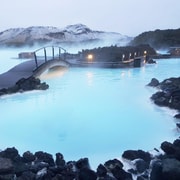
[[[60,46],[45,46],[45,47],[41,47],[41,48],[39,48],[39,49],[37,49],[37,50],[35,50],[33,52],[34,60],[35,60],[35,64],[36,64],[36,69],[38,68],[38,59],[37,59],[36,53],[41,51],[41,50],[44,50],[44,60],[45,60],[45,62],[47,62],[47,53],[46,53],[46,49],[47,48],[52,48],[52,58],[51,58],[51,60],[55,58],[55,56],[54,56],[54,48],[58,48],[59,49],[59,51],[58,51],[58,58],[59,58],[59,60],[61,59],[61,50],[63,50],[64,51],[64,59],[63,60],[65,61],[65,59],[66,59],[66,50],[64,48],[62,48]]]

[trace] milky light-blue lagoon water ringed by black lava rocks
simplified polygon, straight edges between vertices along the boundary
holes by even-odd
[[[1,59],[0,72],[17,63]],[[47,91],[0,97],[0,148],[61,152],[66,161],[88,157],[94,168],[127,149],[159,148],[179,136],[176,112],[154,105],[150,96],[157,90],[146,84],[153,77],[179,77],[179,69],[180,59],[169,59],[134,69],[69,68],[44,74]]]

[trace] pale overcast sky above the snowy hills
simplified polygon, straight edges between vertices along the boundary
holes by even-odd
[[[82,23],[93,30],[136,36],[180,28],[180,0],[0,0],[0,31]]]

